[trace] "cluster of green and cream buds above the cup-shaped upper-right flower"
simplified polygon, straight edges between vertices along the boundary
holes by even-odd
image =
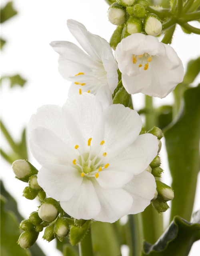
[[[148,6],[150,4],[146,0],[117,0],[109,7],[108,19],[118,26],[110,38],[110,46],[114,50],[123,38],[131,34],[158,36],[162,32],[161,20],[148,12]]]

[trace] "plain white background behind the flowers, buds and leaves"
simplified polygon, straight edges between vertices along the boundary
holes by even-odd
[[[1,0],[2,6],[6,0]],[[9,88],[7,81],[1,87],[1,117],[15,140],[20,138],[24,126],[27,125],[31,114],[44,104],[58,104],[62,106],[68,95],[69,82],[65,81],[58,73],[58,55],[49,46],[54,40],[68,40],[75,42],[66,26],[69,18],[84,23],[86,28],[109,41],[115,26],[108,22],[108,4],[104,0],[17,0],[14,6],[19,14],[2,25],[2,38],[7,40],[1,52],[1,75],[20,73],[28,80],[24,88],[16,86]],[[194,22],[194,26],[199,26]],[[200,55],[200,36],[186,35],[180,27],[176,28],[172,46],[186,63]],[[200,82],[200,77],[194,84]],[[134,106],[140,109],[144,97],[141,94],[134,96]],[[155,105],[172,103],[172,94],[165,99],[155,99]],[[2,136],[2,148],[7,147]],[[163,143],[164,144],[164,143]],[[30,162],[39,167],[32,158]],[[170,184],[171,178],[167,165],[167,156],[162,147],[162,168],[165,170],[163,180]],[[1,178],[6,189],[16,198],[21,214],[28,217],[30,212],[36,210],[37,203],[22,197],[25,187],[23,182],[14,179],[14,174],[3,159],[1,159]],[[200,180],[200,178],[199,178]],[[194,211],[200,208],[200,181],[194,204]],[[168,219],[169,211],[164,214]],[[59,256],[61,253],[55,249],[54,241],[48,243],[41,239],[38,243],[48,256]],[[190,256],[198,255],[200,242],[192,247]],[[124,250],[124,256],[126,250]]]

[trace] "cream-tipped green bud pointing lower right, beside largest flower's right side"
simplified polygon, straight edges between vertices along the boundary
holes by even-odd
[[[172,188],[160,180],[156,180],[156,190],[158,191],[158,196],[164,201],[170,201],[174,198]]]

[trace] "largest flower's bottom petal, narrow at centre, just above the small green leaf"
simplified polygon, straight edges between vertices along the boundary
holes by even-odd
[[[83,179],[74,196],[68,201],[61,201],[60,206],[67,214],[78,220],[94,219],[100,212],[100,202],[94,186],[87,178]]]

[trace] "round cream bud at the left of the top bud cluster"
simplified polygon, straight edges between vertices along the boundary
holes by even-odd
[[[108,9],[108,20],[114,25],[121,25],[125,22],[126,11],[122,6],[114,3]]]

